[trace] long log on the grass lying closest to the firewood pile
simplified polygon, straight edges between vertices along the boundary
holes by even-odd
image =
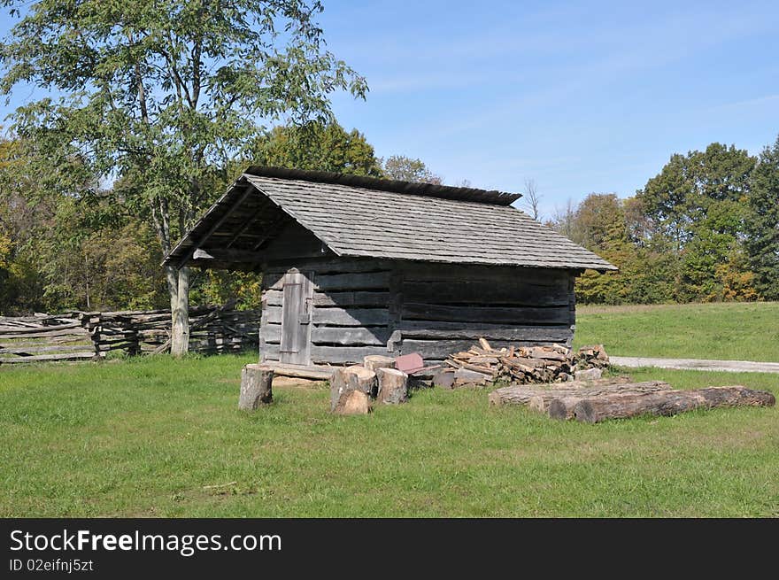
[[[610,381],[610,383],[608,382]],[[539,411],[546,411],[547,406],[552,400],[563,397],[597,397],[603,394],[615,392],[654,392],[669,391],[672,389],[670,384],[662,381],[646,381],[644,383],[630,383],[623,380],[606,379],[605,382],[581,383],[577,381],[568,381],[567,383],[551,383],[549,385],[519,385],[512,387],[501,387],[490,393],[490,404],[492,405],[529,405],[530,399],[537,397],[544,403],[540,406],[538,401],[534,403],[534,408]]]

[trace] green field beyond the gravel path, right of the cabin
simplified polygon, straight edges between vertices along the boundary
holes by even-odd
[[[779,302],[583,306],[575,342],[622,356],[779,361]]]

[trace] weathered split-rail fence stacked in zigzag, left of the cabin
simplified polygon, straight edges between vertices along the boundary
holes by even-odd
[[[257,347],[260,311],[232,307],[190,309],[190,351],[237,352]],[[167,352],[170,334],[169,310],[0,317],[0,364],[102,359],[111,351],[131,356]]]

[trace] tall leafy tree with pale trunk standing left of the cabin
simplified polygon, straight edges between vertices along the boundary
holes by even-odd
[[[37,174],[69,195],[129,178],[120,202],[149,220],[163,253],[263,122],[326,123],[334,90],[366,94],[324,50],[316,0],[0,1],[27,11],[0,46],[0,90],[28,82],[58,95],[15,113],[16,131],[48,160]],[[189,269],[166,267],[166,282],[181,354]]]

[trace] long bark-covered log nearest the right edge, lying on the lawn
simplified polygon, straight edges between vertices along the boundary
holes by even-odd
[[[597,423],[642,414],[675,415],[693,409],[721,406],[774,406],[776,398],[768,391],[752,391],[742,386],[707,387],[691,391],[667,391],[641,395],[613,394],[583,398],[574,407],[577,421]]]

